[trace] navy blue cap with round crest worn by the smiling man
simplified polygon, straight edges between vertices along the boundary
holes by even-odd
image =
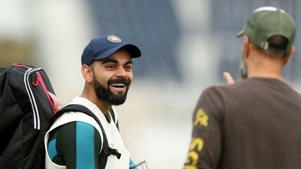
[[[124,48],[131,54],[132,58],[140,57],[141,51],[132,44],[127,44],[114,35],[104,35],[98,38],[93,38],[82,52],[82,65],[90,65],[93,60],[103,59],[118,49]]]

